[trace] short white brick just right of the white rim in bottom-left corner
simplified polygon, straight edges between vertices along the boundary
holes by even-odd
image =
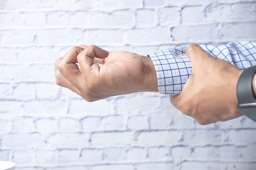
[[[30,164],[33,162],[35,153],[33,150],[17,150],[13,152],[12,162],[19,164]]]

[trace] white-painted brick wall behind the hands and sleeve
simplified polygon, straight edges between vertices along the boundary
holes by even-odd
[[[77,44],[141,55],[256,41],[255,0],[0,0],[0,160],[17,170],[255,170],[256,123],[208,126],[168,96],[88,103],[56,86]]]

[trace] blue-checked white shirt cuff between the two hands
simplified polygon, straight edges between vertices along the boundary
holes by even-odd
[[[157,73],[159,93],[178,95],[192,73],[186,47],[166,49],[149,53]]]

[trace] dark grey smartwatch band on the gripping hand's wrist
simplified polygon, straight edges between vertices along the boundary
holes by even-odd
[[[256,66],[246,68],[240,75],[236,87],[238,110],[256,121],[256,98],[254,97],[252,81],[256,73]]]

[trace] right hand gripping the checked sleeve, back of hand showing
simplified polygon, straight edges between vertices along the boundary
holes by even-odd
[[[187,48],[186,55],[191,60],[192,75],[180,95],[170,96],[171,103],[202,125],[242,116],[236,98],[236,84],[242,71],[212,57],[196,44]]]

